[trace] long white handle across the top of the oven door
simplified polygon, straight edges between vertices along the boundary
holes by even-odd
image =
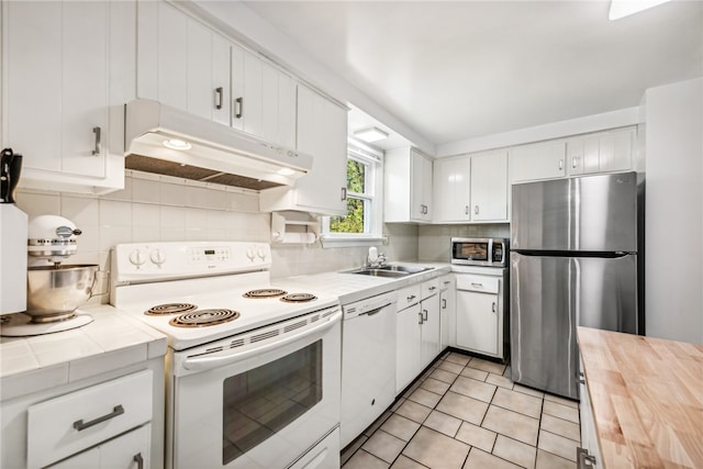
[[[199,356],[199,357],[188,357],[183,360],[183,368],[191,371],[199,370],[209,370],[231,364],[236,364],[237,361],[242,361],[246,358],[249,358],[252,355],[259,355],[265,351],[276,349],[293,343],[295,340],[300,340],[303,337],[309,335],[317,334],[320,332],[326,331],[334,326],[342,319],[342,313],[337,311],[335,314],[326,317],[326,321],[323,321],[321,324],[316,324],[310,328],[303,328],[298,334],[290,334],[283,336],[280,340],[274,340],[266,345],[261,345],[260,347],[254,347],[246,350],[237,351],[236,349],[233,351],[232,349],[217,351],[210,356]]]

